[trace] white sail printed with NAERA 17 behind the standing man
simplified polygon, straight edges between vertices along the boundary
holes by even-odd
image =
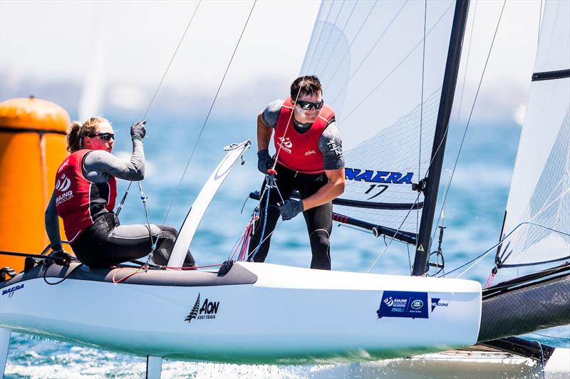
[[[455,1],[323,1],[301,75],[321,80],[341,129],[341,199],[352,205],[334,212],[417,232],[423,194],[412,183],[430,164],[454,9]]]

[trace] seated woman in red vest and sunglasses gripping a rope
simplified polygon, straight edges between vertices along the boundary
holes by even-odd
[[[62,251],[58,216],[77,258],[90,267],[110,267],[153,253],[155,264],[166,265],[177,237],[164,225],[120,225],[113,208],[117,197],[115,178],[138,181],[145,177],[145,121],[130,127],[133,154],[119,160],[111,151],[115,133],[108,120],[89,118],[74,122],[68,130],[71,152],[56,173],[56,187],[46,209],[46,232],[53,251]],[[152,234],[152,241],[151,241]],[[184,266],[195,266],[188,251]]]

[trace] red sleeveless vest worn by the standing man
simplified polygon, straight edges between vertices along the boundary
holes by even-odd
[[[286,98],[275,127],[274,144],[275,150],[279,151],[277,162],[290,170],[304,174],[322,174],[325,169],[323,155],[321,150],[318,150],[318,139],[329,121],[334,118],[334,110],[324,104],[317,120],[305,133],[298,133],[295,130],[292,112],[293,102],[291,98]]]

